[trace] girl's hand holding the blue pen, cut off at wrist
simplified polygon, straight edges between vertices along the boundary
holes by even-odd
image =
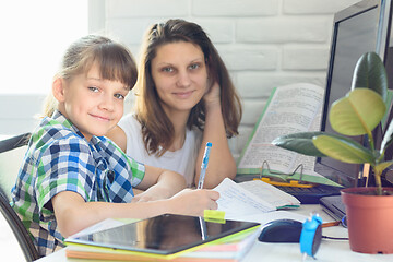
[[[203,216],[204,210],[216,210],[218,207],[216,203],[218,198],[219,193],[214,190],[184,189],[170,198],[171,211],[175,214]]]

